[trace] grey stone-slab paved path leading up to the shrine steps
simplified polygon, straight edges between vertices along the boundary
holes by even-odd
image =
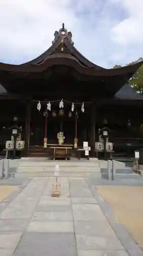
[[[34,178],[0,204],[1,256],[142,256],[89,179]],[[17,194],[16,194],[17,193]]]

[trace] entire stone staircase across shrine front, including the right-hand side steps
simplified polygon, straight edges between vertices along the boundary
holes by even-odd
[[[107,161],[97,158],[67,160],[47,160],[47,158],[21,158],[19,160],[10,160],[9,174],[17,178],[23,177],[53,177],[56,163],[60,166],[60,177],[75,178],[95,178],[96,180],[107,180],[108,170]],[[133,172],[133,168],[126,167],[125,163],[116,161],[116,172],[113,175],[114,180],[142,180],[139,174]],[[111,174],[112,180],[112,174]]]

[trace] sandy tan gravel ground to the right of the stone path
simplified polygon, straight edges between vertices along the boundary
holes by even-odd
[[[143,187],[96,186],[121,222],[143,249]]]

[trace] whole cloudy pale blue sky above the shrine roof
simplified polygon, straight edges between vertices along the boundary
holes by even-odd
[[[21,64],[51,46],[62,23],[104,68],[143,57],[143,0],[1,0],[0,62]]]

